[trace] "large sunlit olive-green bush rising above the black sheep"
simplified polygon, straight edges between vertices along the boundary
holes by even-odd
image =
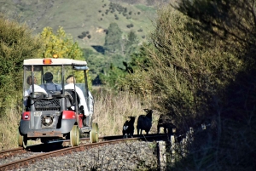
[[[211,110],[212,96],[222,96],[238,71],[241,60],[218,44],[204,48],[197,37],[187,31],[189,19],[172,8],[161,9],[155,31],[149,35],[154,48],[148,49],[153,64],[148,71],[160,103],[176,117],[177,124],[195,124],[195,118]],[[165,98],[166,97],[166,98]],[[162,109],[163,110],[163,109]],[[192,123],[191,123],[192,122]]]

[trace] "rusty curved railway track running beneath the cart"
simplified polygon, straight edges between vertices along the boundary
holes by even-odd
[[[127,141],[135,140],[166,140],[167,136],[165,134],[150,134],[138,136],[135,135],[134,138],[123,139],[123,136],[108,136],[108,137],[99,137],[98,143],[90,143],[89,138],[80,139],[79,146],[71,147],[69,140],[54,141],[49,144],[40,144],[40,145],[31,145],[27,146],[26,150],[23,148],[16,148],[9,151],[0,152],[0,161],[4,158],[14,157],[15,160],[12,162],[6,162],[0,165],[0,171],[2,170],[13,170],[17,168],[23,168],[28,166],[33,162],[39,160],[44,160],[49,157],[59,157],[65,156],[66,154],[77,152],[77,151],[86,151],[91,148],[96,148],[102,145],[114,145],[118,143],[124,143]],[[1,163],[1,162],[0,162]]]

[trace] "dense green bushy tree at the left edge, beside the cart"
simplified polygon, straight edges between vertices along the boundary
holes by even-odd
[[[0,117],[11,105],[22,106],[23,60],[36,58],[40,45],[28,26],[0,14]]]

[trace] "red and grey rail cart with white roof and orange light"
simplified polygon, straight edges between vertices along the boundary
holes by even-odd
[[[70,140],[72,146],[79,145],[81,134],[90,134],[91,143],[98,141],[98,125],[92,123],[93,99],[88,89],[87,72],[84,60],[71,59],[29,59],[23,61],[23,111],[20,118],[18,145],[26,148],[27,140]],[[44,88],[44,74],[52,73],[55,90],[38,92]],[[73,75],[74,85],[82,89],[87,107],[79,107],[79,94],[76,86],[65,89],[66,78]],[[31,85],[28,84],[31,77]],[[85,117],[84,110],[90,111]]]

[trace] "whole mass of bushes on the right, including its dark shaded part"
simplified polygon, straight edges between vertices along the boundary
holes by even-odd
[[[155,107],[178,130],[196,128],[177,170],[253,170],[254,3],[183,1],[178,7],[183,14],[160,9],[149,34],[154,47],[146,49]],[[210,131],[199,133],[201,123]]]

